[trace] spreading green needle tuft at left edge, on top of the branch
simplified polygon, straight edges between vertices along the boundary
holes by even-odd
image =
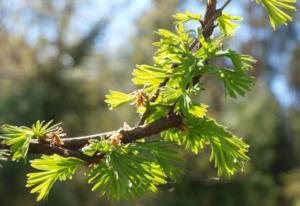
[[[12,125],[3,125],[1,132],[3,136],[8,140],[5,140],[5,144],[10,146],[10,150],[13,153],[12,160],[19,161],[25,159],[29,149],[29,143],[32,138],[40,138],[49,132],[57,130],[60,124],[51,126],[52,121],[48,123],[37,121],[32,128],[29,127],[16,127]]]

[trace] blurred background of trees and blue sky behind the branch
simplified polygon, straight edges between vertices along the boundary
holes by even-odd
[[[1,0],[0,125],[54,119],[70,136],[116,129],[124,121],[133,125],[134,111],[109,111],[105,94],[134,90],[135,65],[152,62],[153,31],[173,29],[172,14],[202,13],[204,3]],[[99,198],[80,171],[72,181],[56,184],[48,200],[36,203],[24,186],[28,164],[6,162],[0,169],[0,205],[300,205],[300,14],[274,32],[253,1],[234,1],[227,11],[244,17],[226,45],[258,60],[256,85],[245,98],[232,100],[220,84],[207,81],[199,100],[251,145],[244,173],[217,180],[207,151],[199,156],[183,152],[185,174],[179,182],[142,199],[112,203]]]

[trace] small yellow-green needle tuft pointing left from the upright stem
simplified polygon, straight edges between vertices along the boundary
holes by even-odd
[[[109,94],[107,94],[105,98],[105,102],[108,104],[109,109],[113,110],[132,101],[134,99],[134,95],[110,90]]]

